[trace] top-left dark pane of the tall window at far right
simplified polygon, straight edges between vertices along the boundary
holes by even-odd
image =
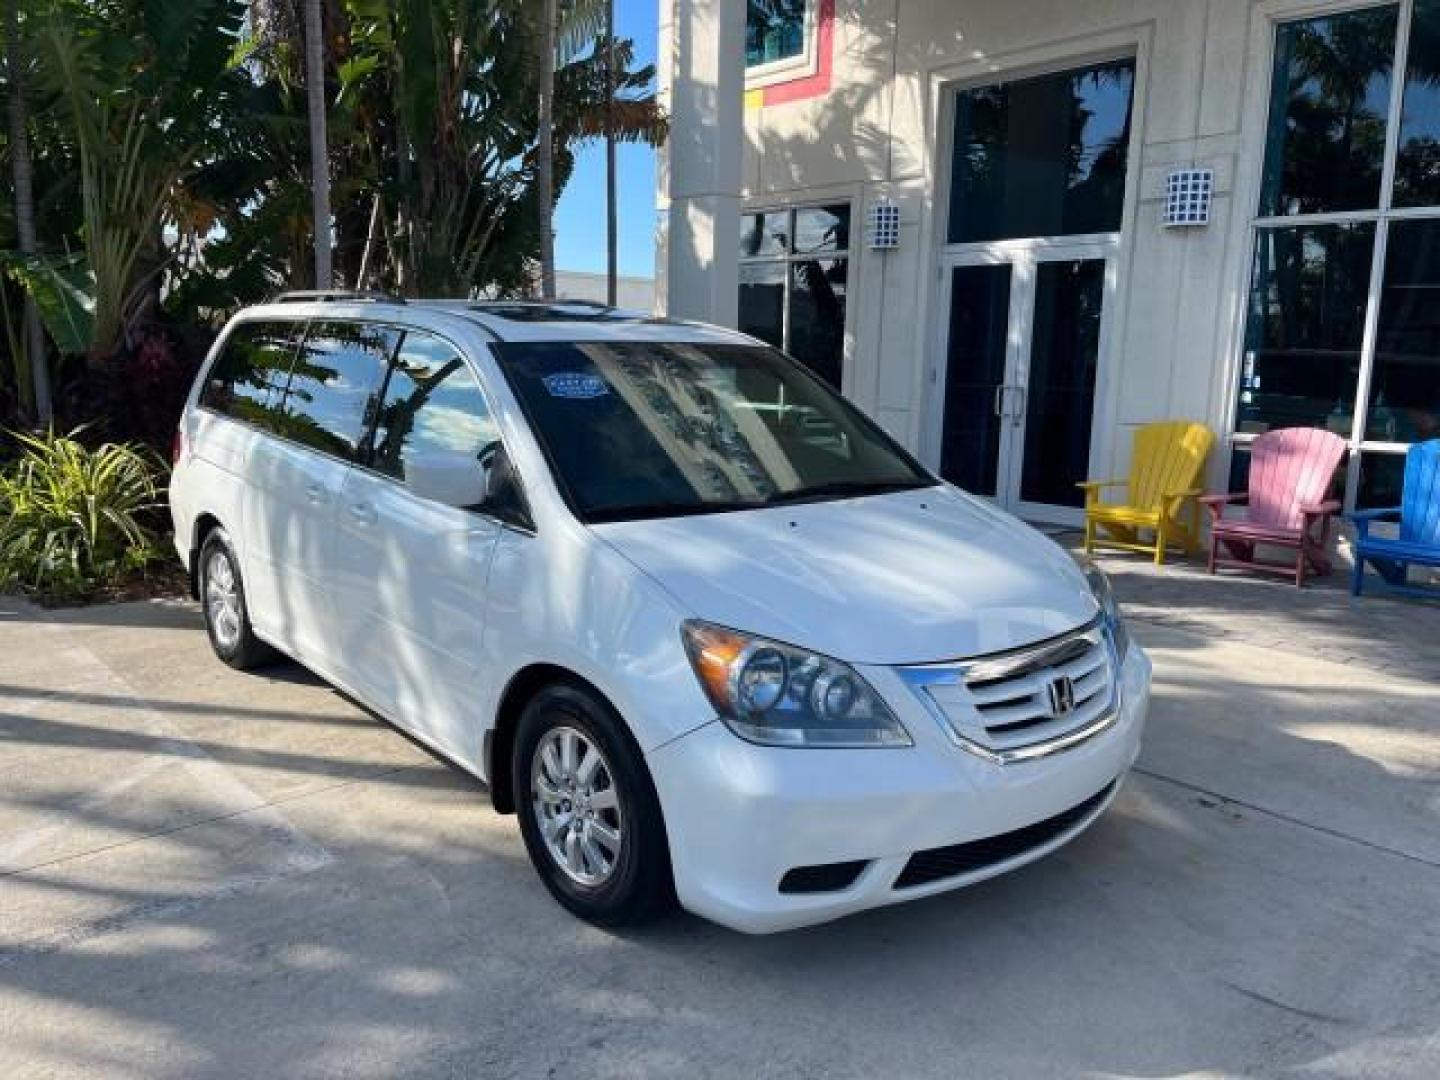
[[[1380,206],[1397,10],[1276,30],[1261,216]]]

